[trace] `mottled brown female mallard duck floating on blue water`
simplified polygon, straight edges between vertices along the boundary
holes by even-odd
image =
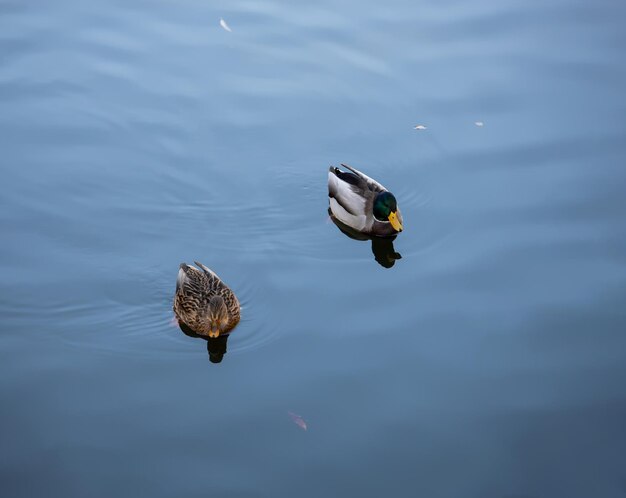
[[[182,263],[178,270],[174,296],[178,323],[200,336],[227,334],[239,323],[239,301],[214,271],[197,261],[195,264],[200,269]]]

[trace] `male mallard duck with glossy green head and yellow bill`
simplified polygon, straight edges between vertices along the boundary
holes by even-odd
[[[366,235],[390,237],[402,231],[402,214],[396,198],[376,180],[342,164],[328,172],[328,197],[332,215]]]

